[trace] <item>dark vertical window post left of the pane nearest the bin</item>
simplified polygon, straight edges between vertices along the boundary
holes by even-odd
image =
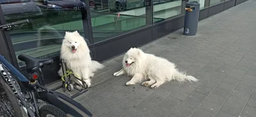
[[[153,24],[153,0],[145,0],[146,6],[146,25]]]

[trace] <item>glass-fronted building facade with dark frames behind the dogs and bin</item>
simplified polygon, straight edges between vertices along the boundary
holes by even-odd
[[[200,3],[199,20],[246,0],[189,0]],[[0,32],[0,53],[22,73],[20,54],[52,58],[43,69],[45,83],[58,81],[60,47],[65,31],[78,31],[93,60],[103,62],[184,25],[188,0],[10,0],[0,1],[0,24],[29,19],[11,31]]]

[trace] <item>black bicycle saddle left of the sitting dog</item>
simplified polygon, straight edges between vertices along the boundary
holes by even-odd
[[[44,65],[53,63],[52,59],[36,59],[25,54],[19,55],[18,59],[25,62],[26,71],[30,74],[36,72],[39,68],[44,67]]]

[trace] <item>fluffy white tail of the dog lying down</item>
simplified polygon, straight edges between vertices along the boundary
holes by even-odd
[[[175,71],[173,72],[173,79],[177,80],[177,81],[180,81],[180,82],[183,82],[183,81],[195,81],[197,82],[198,79],[196,79],[194,76],[187,76],[185,72],[179,72],[179,71]]]

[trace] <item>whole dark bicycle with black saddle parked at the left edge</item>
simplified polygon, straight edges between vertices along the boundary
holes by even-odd
[[[0,29],[10,31],[15,25],[28,23],[29,20],[21,20],[1,25]],[[24,108],[29,117],[93,116],[90,111],[67,95],[45,87],[41,68],[52,64],[52,59],[35,59],[28,55],[19,55],[18,59],[25,62],[28,78],[0,54],[0,112],[4,116],[21,117],[20,107]],[[22,93],[17,80],[26,88],[26,94]]]

